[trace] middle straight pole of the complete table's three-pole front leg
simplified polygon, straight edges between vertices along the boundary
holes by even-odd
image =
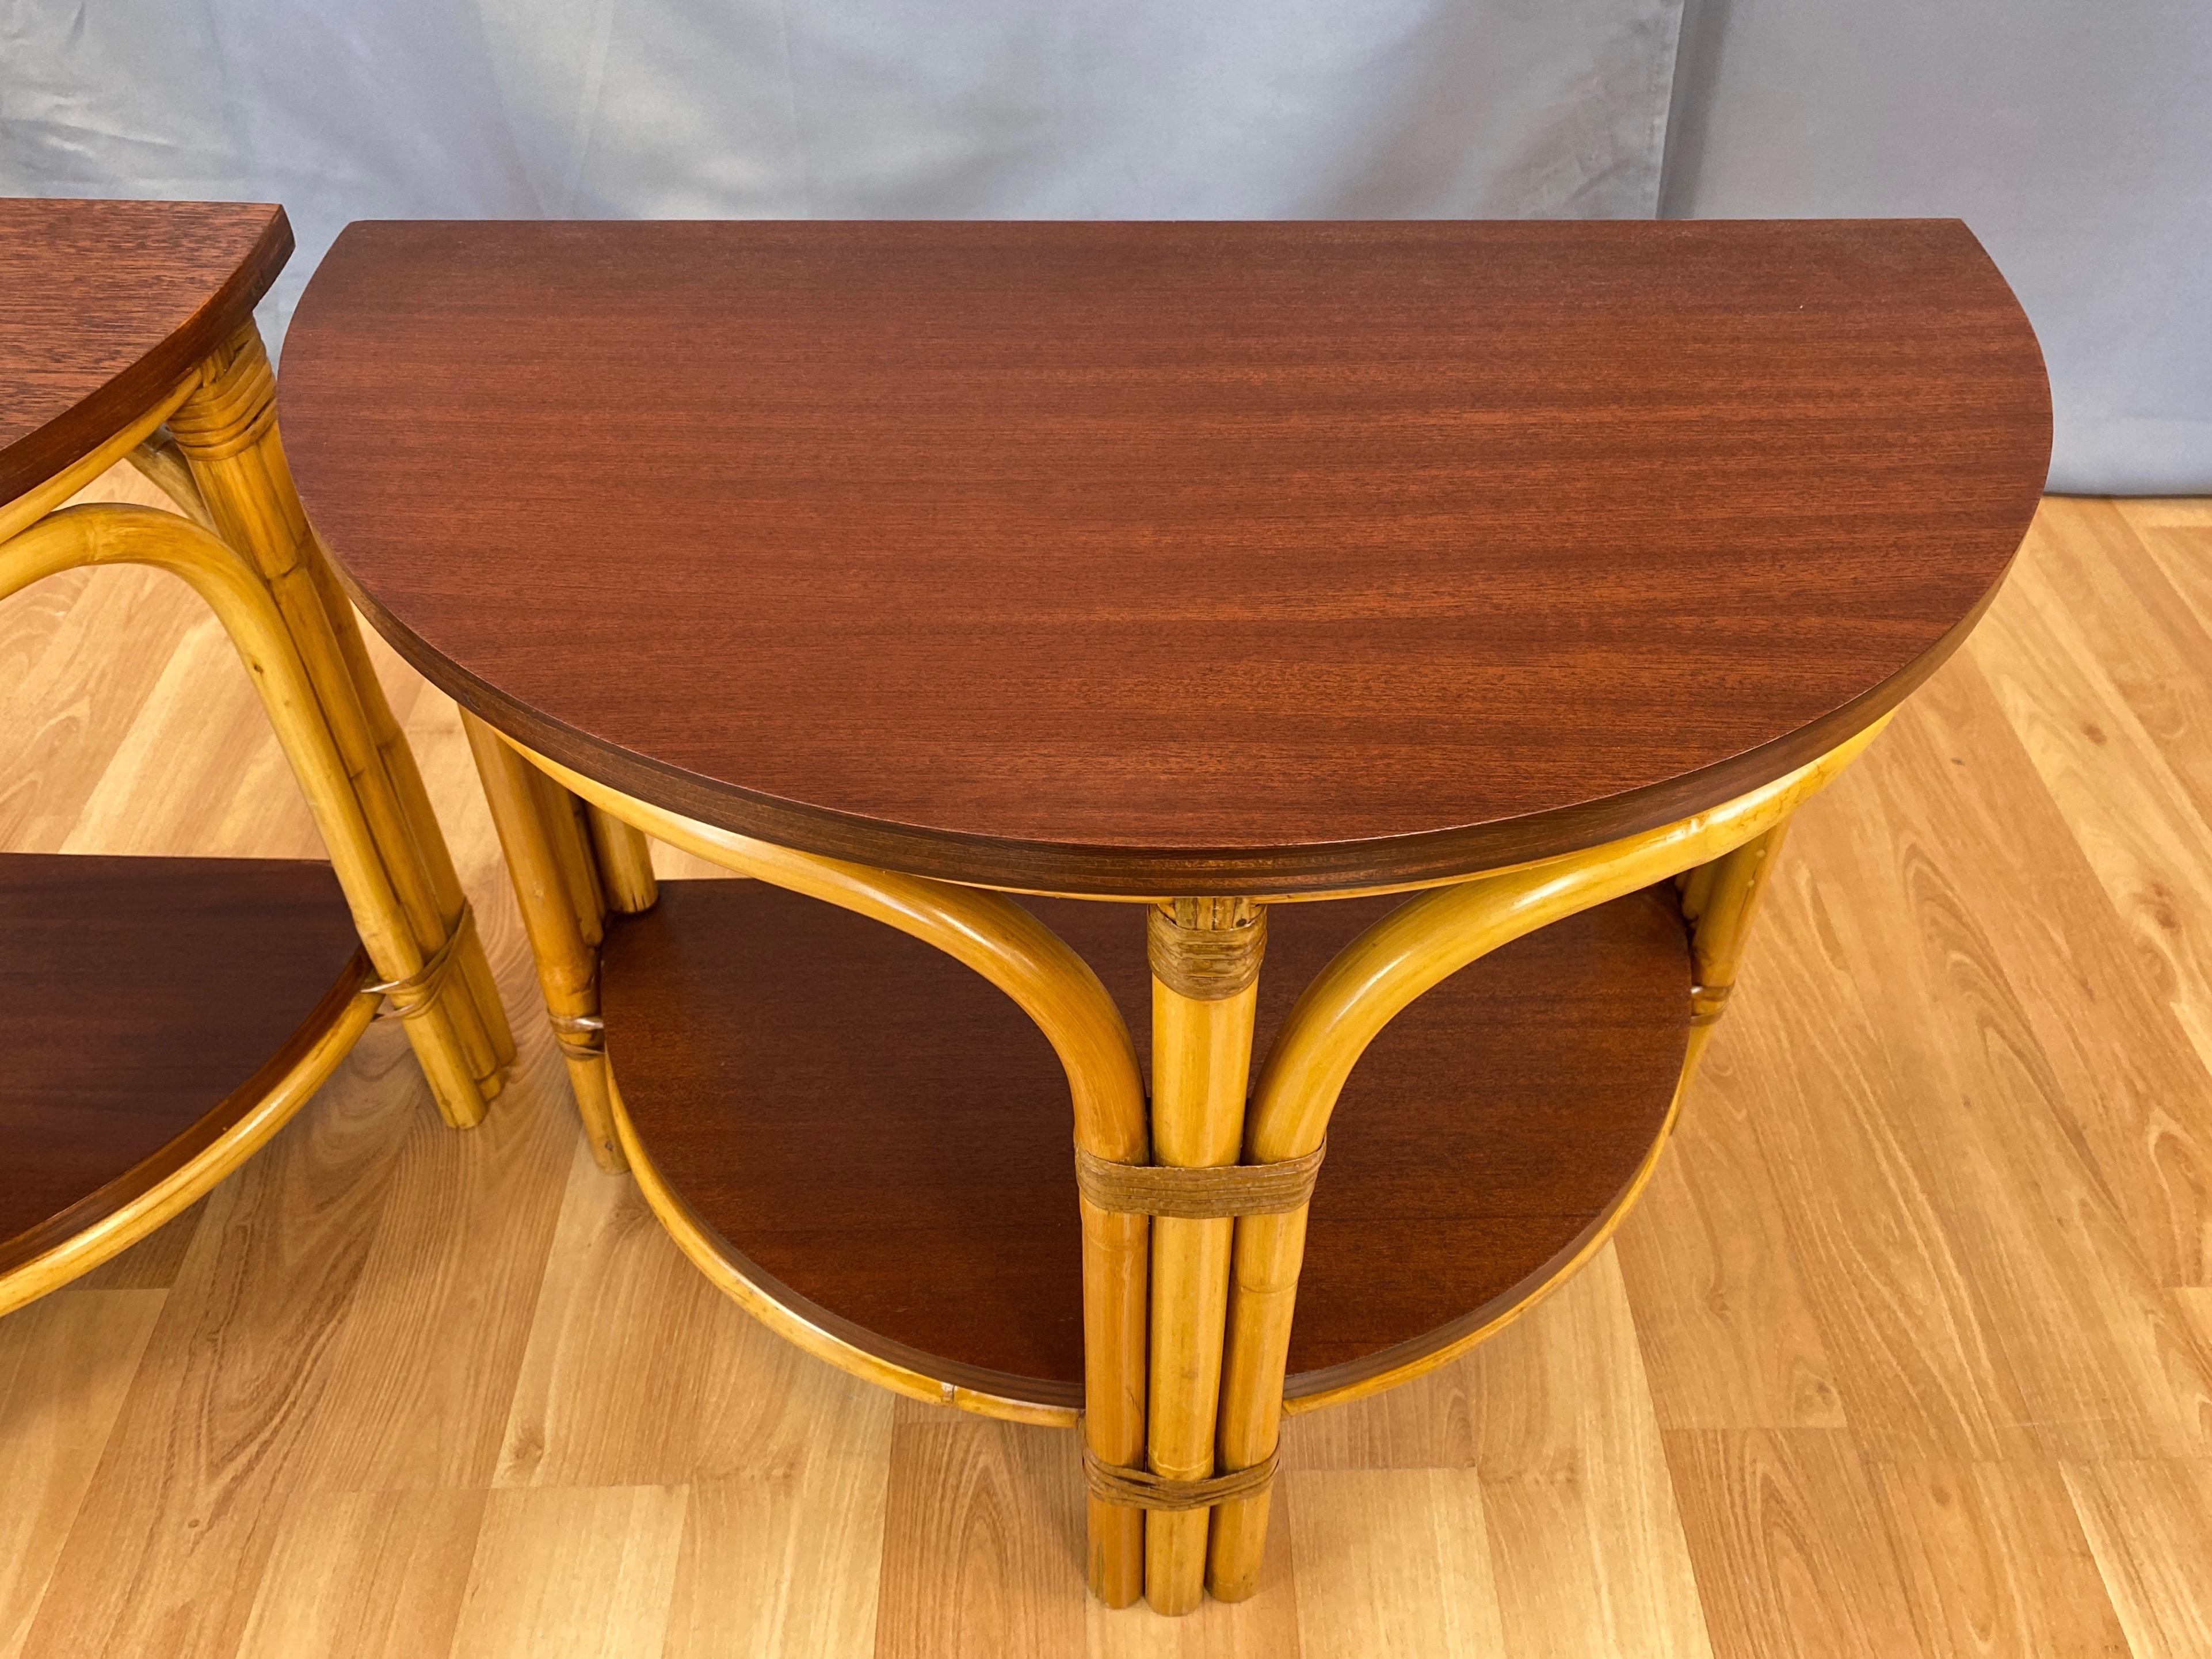
[[[1152,956],[1152,1159],[1234,1164],[1243,1148],[1252,1009],[1267,940],[1248,898],[1179,898],[1148,914]],[[1214,1409],[1234,1221],[1152,1223],[1152,1473],[1214,1473]],[[1206,1593],[1208,1511],[1155,1511],[1144,1524],[1144,1599],[1190,1613]]]

